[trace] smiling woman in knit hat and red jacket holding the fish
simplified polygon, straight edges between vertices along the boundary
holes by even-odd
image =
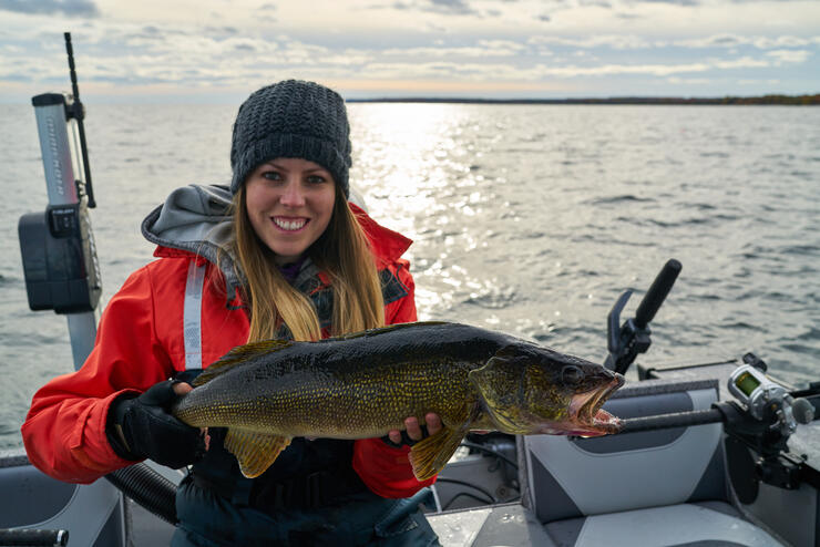
[[[203,367],[269,338],[317,340],[416,320],[410,241],[348,203],[342,99],[285,81],[239,109],[224,186],[175,190],[143,223],[153,261],[111,299],[88,361],[44,385],[22,426],[29,458],[90,483],[151,458],[193,464],[172,545],[437,545],[408,445],[441,422],[359,441],[295,438],[249,479],[168,412]],[[168,380],[173,379],[173,380]],[[424,427],[424,425],[427,427]],[[418,497],[418,496],[417,496]]]

